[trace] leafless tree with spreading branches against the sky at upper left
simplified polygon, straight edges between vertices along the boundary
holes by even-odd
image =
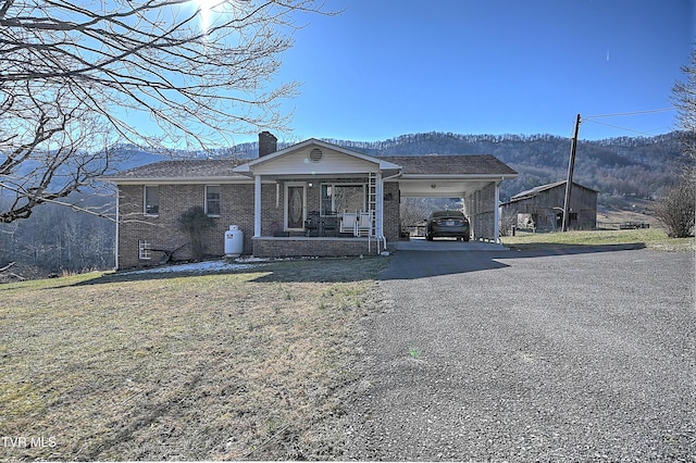
[[[0,0],[0,222],[109,168],[115,141],[204,149],[287,127],[273,82],[318,0]],[[156,127],[147,128],[149,126]]]

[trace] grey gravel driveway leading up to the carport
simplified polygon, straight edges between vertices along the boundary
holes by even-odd
[[[694,255],[401,251],[347,460],[696,461]]]

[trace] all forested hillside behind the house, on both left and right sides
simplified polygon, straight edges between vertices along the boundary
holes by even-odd
[[[412,134],[384,141],[326,140],[371,155],[494,154],[519,172],[501,185],[501,200],[529,188],[566,178],[570,139],[550,135]],[[278,143],[286,148],[288,143]],[[243,143],[217,152],[147,152],[121,146],[128,160],[116,168],[169,158],[256,158],[258,145]],[[599,191],[600,207],[629,208],[631,199],[652,198],[680,170],[679,134],[651,138],[580,141],[575,182]],[[2,203],[0,195],[0,207]],[[94,190],[74,193],[67,202],[113,213],[114,195]],[[16,261],[24,276],[113,266],[114,222],[69,208],[45,204],[24,221],[0,224],[0,267]]]

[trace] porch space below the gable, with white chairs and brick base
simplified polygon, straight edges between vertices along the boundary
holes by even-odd
[[[268,188],[271,183],[272,188]],[[256,185],[253,255],[339,256],[386,250],[381,175],[369,173],[350,178],[260,175]],[[275,189],[271,201],[270,189]],[[269,202],[272,204],[268,205]]]

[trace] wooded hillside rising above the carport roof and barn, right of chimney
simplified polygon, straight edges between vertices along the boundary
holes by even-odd
[[[372,155],[493,154],[520,174],[504,182],[501,199],[538,185],[563,180],[571,140],[551,135],[412,134],[386,141],[328,140]],[[652,198],[680,170],[679,133],[650,138],[611,138],[577,145],[575,182],[599,191],[601,204],[622,198]]]

